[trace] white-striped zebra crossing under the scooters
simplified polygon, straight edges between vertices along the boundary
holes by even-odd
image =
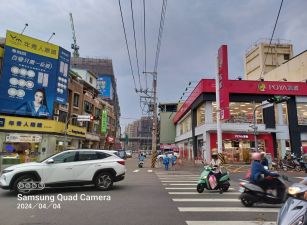
[[[156,171],[163,188],[187,225],[275,225],[279,206],[265,204],[244,207],[238,192],[239,181],[231,181],[228,192],[198,193],[199,174],[187,171]]]

